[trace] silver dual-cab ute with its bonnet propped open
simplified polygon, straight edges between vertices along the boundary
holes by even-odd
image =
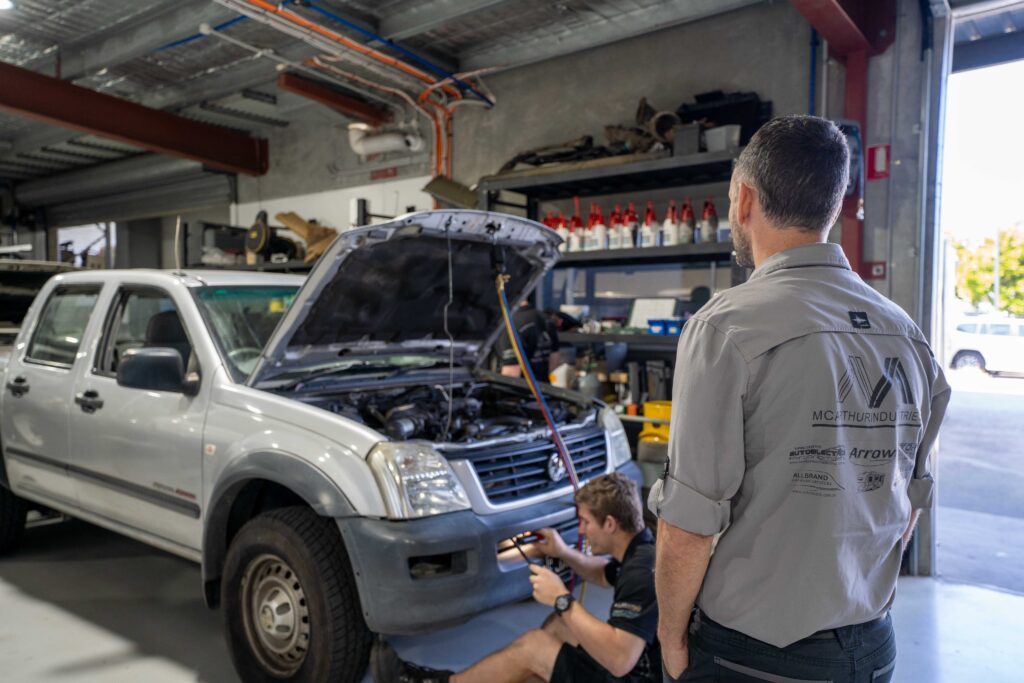
[[[558,242],[435,211],[343,233],[307,280],[55,275],[2,368],[0,554],[42,507],[200,562],[245,681],[357,681],[374,632],[526,597],[509,540],[573,540],[572,495],[526,385],[483,360],[494,264],[518,301]],[[640,479],[609,409],[545,393],[581,479]]]

